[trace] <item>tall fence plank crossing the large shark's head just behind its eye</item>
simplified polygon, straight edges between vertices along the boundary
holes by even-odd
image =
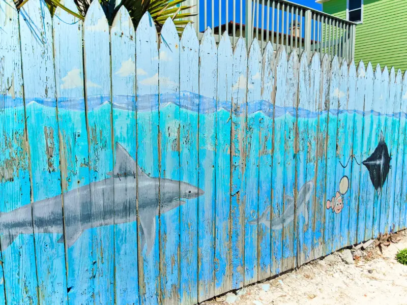
[[[168,180],[180,180],[180,40],[170,17],[161,29],[158,67],[161,302],[178,304],[180,210],[169,210],[166,205],[172,194],[177,199],[171,204],[178,207],[181,203],[179,182]]]

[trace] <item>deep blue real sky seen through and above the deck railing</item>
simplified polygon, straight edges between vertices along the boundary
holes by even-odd
[[[222,21],[221,23],[226,23],[226,1],[228,1],[228,16],[227,19],[228,21],[233,20],[233,0],[213,0],[214,1],[214,11],[215,11],[215,20],[214,20],[214,25],[217,26],[219,25],[219,1],[222,3]],[[240,0],[235,0],[236,1],[236,18],[235,21],[240,23]],[[199,29],[200,31],[203,31],[205,29],[205,14],[204,14],[204,8],[205,8],[205,2],[207,3],[207,26],[212,26],[212,1],[211,0],[199,0]],[[260,0],[261,4],[262,0]],[[265,1],[266,2],[266,1]],[[314,0],[291,0],[291,2],[298,3],[303,6],[307,6],[316,10],[321,11],[322,10],[322,5],[315,3]],[[245,0],[242,0],[242,7],[243,7],[243,20],[245,16]],[[271,16],[271,14],[270,14]],[[271,17],[270,17],[271,18]],[[244,23],[244,22],[243,22]]]

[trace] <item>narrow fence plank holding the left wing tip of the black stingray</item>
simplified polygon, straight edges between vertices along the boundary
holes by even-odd
[[[361,160],[366,160],[370,151],[372,151],[372,131],[374,125],[374,116],[372,115],[372,101],[373,101],[373,84],[374,74],[371,63],[367,64],[366,80],[365,80],[365,107],[363,112],[363,142],[362,142],[362,156]],[[368,192],[374,192],[371,188],[369,171],[363,168],[360,175],[360,195],[359,195],[359,210],[364,214],[364,222],[358,224],[358,240],[367,240],[371,237],[371,227],[373,225],[373,201],[368,201]],[[370,229],[370,232],[368,231]],[[370,235],[370,236],[368,236]]]

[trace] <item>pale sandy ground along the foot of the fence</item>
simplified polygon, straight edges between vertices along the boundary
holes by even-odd
[[[395,260],[407,248],[407,230],[394,235],[398,243],[384,247],[383,254],[372,244],[362,251],[351,250],[354,264],[345,264],[341,251],[328,259],[312,261],[298,270],[263,283],[205,302],[230,304],[380,304],[407,305],[407,266]]]

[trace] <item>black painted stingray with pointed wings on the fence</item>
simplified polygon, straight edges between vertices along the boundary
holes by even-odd
[[[377,193],[383,188],[386,182],[387,175],[390,169],[390,156],[387,144],[383,137],[383,132],[380,133],[380,141],[374,149],[373,154],[362,162],[369,171],[370,180],[372,181],[374,189]]]

